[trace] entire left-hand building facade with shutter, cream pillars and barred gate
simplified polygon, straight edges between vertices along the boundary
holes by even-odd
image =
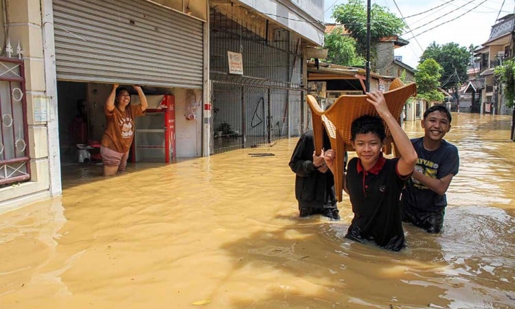
[[[62,170],[77,164],[70,119],[84,100],[87,142],[99,141],[111,84],[140,85],[157,112],[173,98],[174,157],[209,156],[233,136],[247,147],[299,133],[304,59],[323,45],[322,0],[20,0],[1,10],[0,212],[61,194]],[[158,131],[163,117],[145,117]],[[142,140],[170,135],[161,131]]]

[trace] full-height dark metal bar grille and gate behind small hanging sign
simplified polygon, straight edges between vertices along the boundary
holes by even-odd
[[[209,21],[214,152],[299,135],[304,102],[301,38],[216,8],[211,8]],[[243,75],[229,74],[227,52],[242,55]]]

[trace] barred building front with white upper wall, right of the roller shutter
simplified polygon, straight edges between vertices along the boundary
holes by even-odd
[[[323,45],[323,1],[213,1],[211,152],[301,133],[306,55]]]

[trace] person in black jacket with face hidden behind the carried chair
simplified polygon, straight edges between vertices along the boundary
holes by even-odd
[[[323,149],[331,148],[329,137],[323,130]],[[295,172],[295,198],[299,203],[301,217],[321,214],[331,220],[340,220],[336,207],[334,177],[325,164],[323,151],[314,153],[313,131],[302,134],[290,159],[291,170]]]

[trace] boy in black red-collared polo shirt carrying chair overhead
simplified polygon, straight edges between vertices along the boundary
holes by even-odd
[[[404,181],[409,179],[417,162],[417,152],[397,119],[391,115],[380,91],[367,93],[380,117],[364,115],[352,122],[352,146],[357,158],[347,165],[344,190],[350,196],[354,218],[346,238],[363,242],[371,240],[385,249],[399,251],[404,247],[404,230],[399,198]],[[385,159],[387,124],[400,158]],[[329,168],[334,167],[334,150],[324,153]]]

